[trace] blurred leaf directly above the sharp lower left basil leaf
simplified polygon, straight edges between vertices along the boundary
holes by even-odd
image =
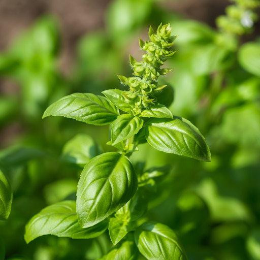
[[[49,183],[43,189],[44,197],[48,205],[65,200],[77,191],[78,181],[75,179],[61,179]]]

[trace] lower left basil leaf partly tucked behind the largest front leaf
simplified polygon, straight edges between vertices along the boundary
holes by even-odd
[[[107,228],[107,221],[103,221],[82,229],[76,215],[76,202],[62,201],[44,208],[32,217],[25,226],[24,239],[27,244],[43,235],[87,239],[100,236]]]

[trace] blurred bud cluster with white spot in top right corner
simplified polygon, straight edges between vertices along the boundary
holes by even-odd
[[[226,8],[226,16],[217,18],[217,26],[224,32],[233,35],[243,35],[250,32],[257,14],[254,9],[260,6],[258,0],[233,0],[236,5]]]

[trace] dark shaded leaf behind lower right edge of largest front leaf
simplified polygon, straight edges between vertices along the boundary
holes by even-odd
[[[122,221],[136,221],[141,218],[148,208],[148,194],[138,187],[134,197],[119,209],[115,217]]]

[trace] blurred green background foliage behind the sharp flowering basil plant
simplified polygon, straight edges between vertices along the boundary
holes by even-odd
[[[228,2],[216,1],[218,8],[205,9],[208,24],[181,13],[178,1],[103,2],[103,12],[93,11],[81,30],[73,23],[67,28],[63,18],[42,7],[26,30],[13,37],[8,47],[2,45],[0,169],[11,183],[13,204],[8,220],[0,221],[0,259],[95,260],[112,246],[108,232],[90,240],[44,236],[26,245],[25,223],[46,205],[75,199],[84,165],[102,150],[114,149],[106,145],[107,126],[41,117],[48,105],[66,94],[124,89],[116,74],[131,76],[128,55],[140,60],[143,54],[138,37],[145,41],[149,25],[155,29],[160,22],[171,22],[173,35],[179,35],[174,45],[177,52],[165,66],[174,71],[162,84],[174,90],[172,113],[190,120],[205,136],[212,162],[166,154],[142,144],[131,157],[137,166],[172,167],[158,185],[146,217],[176,231],[189,260],[259,260],[259,23],[254,32],[234,43],[221,31],[221,24],[219,30],[214,27],[214,19],[224,14]],[[201,1],[199,8],[209,2]],[[14,2],[13,8],[17,5],[22,10],[21,3]],[[77,3],[67,3],[74,15],[80,10],[74,7]],[[189,4],[192,8],[191,2],[185,3],[184,11]],[[53,2],[53,9],[57,4]],[[91,8],[97,7],[92,4]],[[190,16],[198,18],[198,14]],[[76,39],[72,58],[66,58],[66,30],[73,31]],[[6,35],[10,37],[10,32]],[[77,141],[79,136],[84,137],[83,143]]]

